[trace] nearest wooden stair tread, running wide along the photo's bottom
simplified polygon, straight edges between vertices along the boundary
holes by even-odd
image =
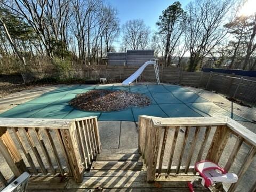
[[[91,177],[91,175],[88,175],[84,177],[81,183],[76,183],[72,178],[63,180],[60,177],[31,177],[28,183],[28,191],[51,191],[49,189],[58,191],[58,189],[65,189],[65,191],[82,192],[85,189],[85,191],[87,191],[87,189],[95,189],[95,191],[97,191],[96,189],[99,188],[101,188],[102,191],[109,191],[110,189],[122,191],[122,188],[124,188],[123,191],[189,191],[187,182],[194,178],[195,175],[178,175],[177,177],[167,178],[162,176],[156,178],[156,182],[149,183],[146,181],[146,175],[123,177]],[[195,191],[209,191],[202,187],[201,183],[198,181],[194,183],[194,188]]]

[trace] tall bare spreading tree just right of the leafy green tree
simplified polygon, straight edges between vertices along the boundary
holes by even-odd
[[[199,61],[225,38],[227,30],[222,23],[231,3],[229,0],[195,0],[188,4],[189,71],[195,71]]]

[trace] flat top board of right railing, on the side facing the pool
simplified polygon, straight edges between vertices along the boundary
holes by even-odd
[[[226,125],[228,117],[171,117],[162,118],[141,115],[143,118],[153,119],[154,126],[217,126]]]

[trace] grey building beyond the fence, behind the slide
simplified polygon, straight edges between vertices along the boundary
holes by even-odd
[[[154,50],[127,50],[126,53],[107,53],[108,65],[142,66],[154,57]]]

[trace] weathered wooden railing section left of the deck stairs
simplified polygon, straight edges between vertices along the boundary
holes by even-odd
[[[83,172],[100,153],[97,117],[78,119],[0,118],[0,152],[15,177]],[[0,172],[0,181],[7,181]]]

